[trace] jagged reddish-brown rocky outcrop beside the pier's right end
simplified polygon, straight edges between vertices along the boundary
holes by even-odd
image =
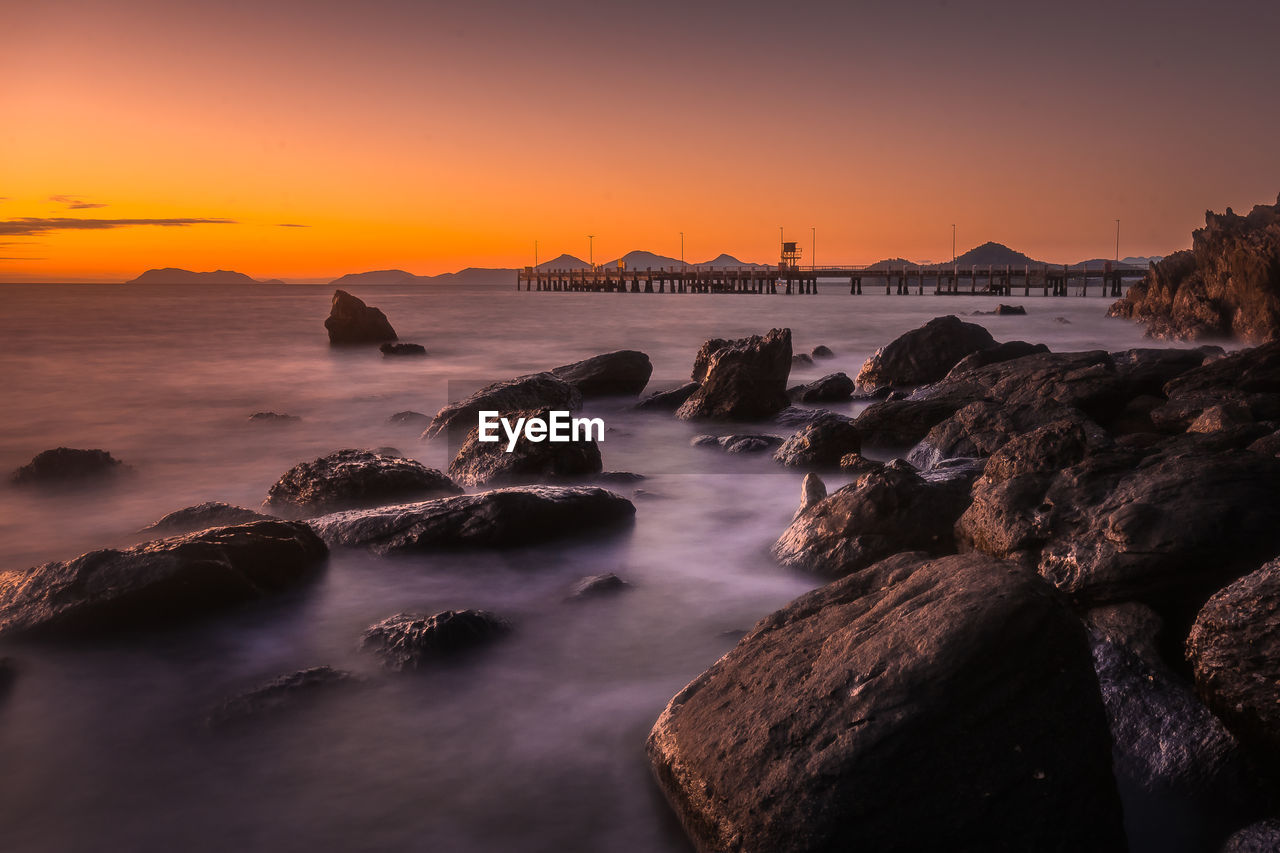
[[[1153,264],[1147,278],[1111,306],[1112,316],[1146,324],[1157,338],[1280,337],[1280,200],[1247,216],[1207,211],[1192,248]]]

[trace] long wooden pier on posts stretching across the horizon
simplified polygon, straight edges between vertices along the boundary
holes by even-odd
[[[819,279],[849,283],[859,295],[883,284],[886,295],[936,296],[1088,296],[1091,283],[1101,296],[1121,296],[1125,279],[1146,269],[1116,266],[1085,270],[1044,264],[1015,266],[682,266],[680,269],[535,269],[516,274],[516,289],[562,293],[817,293]]]

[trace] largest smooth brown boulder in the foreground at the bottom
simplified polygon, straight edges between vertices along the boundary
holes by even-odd
[[[979,555],[901,555],[767,616],[648,752],[701,850],[1125,849],[1084,631]]]

